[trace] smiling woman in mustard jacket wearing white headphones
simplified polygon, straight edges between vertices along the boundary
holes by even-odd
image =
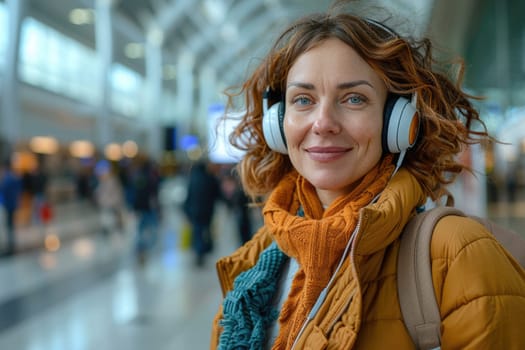
[[[455,155],[489,138],[460,83],[434,68],[428,40],[358,16],[308,16],[279,37],[242,86],[232,134],[264,227],[217,263],[211,348],[414,348],[399,235],[464,170]],[[443,349],[525,348],[525,271],[490,233],[446,217],[431,255]]]

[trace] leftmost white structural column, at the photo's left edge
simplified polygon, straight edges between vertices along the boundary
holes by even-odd
[[[20,28],[24,18],[26,0],[7,0],[6,67],[2,96],[2,127],[4,141],[13,145],[20,136],[20,96],[18,83],[18,52],[20,47]]]

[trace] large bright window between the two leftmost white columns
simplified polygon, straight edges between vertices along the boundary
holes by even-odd
[[[97,103],[96,52],[28,17],[22,23],[20,77],[42,88]]]

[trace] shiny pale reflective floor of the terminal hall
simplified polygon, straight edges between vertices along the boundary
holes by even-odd
[[[227,209],[218,208],[221,234],[202,267],[182,247],[177,206],[164,208],[143,264],[133,252],[132,215],[125,232],[103,235],[97,213],[78,209],[50,225],[48,235],[62,237],[57,251],[0,258],[0,349],[207,349],[220,302],[214,262],[238,242]]]

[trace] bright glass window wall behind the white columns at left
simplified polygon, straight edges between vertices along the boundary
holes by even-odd
[[[3,16],[3,17],[2,17]],[[4,19],[0,13],[0,21]],[[4,31],[5,32],[5,31]],[[6,38],[0,36],[0,50]],[[1,52],[1,51],[0,51]],[[97,105],[101,101],[97,52],[34,18],[22,24],[20,79],[57,94]],[[114,63],[110,73],[111,108],[124,116],[142,115],[144,77]]]

